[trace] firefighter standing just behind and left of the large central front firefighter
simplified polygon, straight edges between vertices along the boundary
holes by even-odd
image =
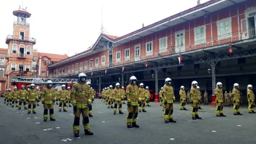
[[[117,104],[119,114],[124,114],[122,112],[122,89],[120,88],[120,83],[115,84],[115,89],[113,90],[113,101],[114,101],[114,115],[116,114]]]

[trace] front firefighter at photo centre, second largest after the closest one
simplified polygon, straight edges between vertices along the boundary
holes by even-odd
[[[126,96],[127,96],[127,107],[128,114],[126,118],[127,128],[139,128],[137,125],[138,117],[138,104],[140,104],[138,97],[139,87],[136,85],[137,78],[135,76],[130,77],[130,84],[126,87]]]

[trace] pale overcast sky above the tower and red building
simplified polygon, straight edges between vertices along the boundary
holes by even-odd
[[[120,37],[140,29],[142,23],[150,25],[196,4],[197,0],[23,0],[23,7],[32,14],[34,48],[68,56],[95,43],[101,21],[108,34]],[[19,5],[22,7],[22,0],[0,0],[0,48],[7,48],[5,38],[13,31],[12,11]]]

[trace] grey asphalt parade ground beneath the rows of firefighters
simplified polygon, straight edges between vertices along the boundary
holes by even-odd
[[[140,128],[127,129],[127,106],[124,114],[113,115],[113,109],[95,99],[93,117],[89,118],[93,136],[84,135],[82,118],[80,137],[73,135],[73,108],[59,112],[55,105],[56,121],[43,122],[43,107],[36,107],[37,114],[27,114],[22,107],[6,106],[0,98],[0,144],[256,144],[256,114],[248,114],[247,107],[241,109],[243,116],[234,116],[232,107],[224,107],[227,117],[216,117],[215,106],[202,105],[199,116],[191,119],[191,107],[180,111],[174,104],[173,118],[177,123],[165,124],[159,103],[151,102],[147,112],[138,115]]]

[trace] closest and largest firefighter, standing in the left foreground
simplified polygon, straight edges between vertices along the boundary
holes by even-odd
[[[88,84],[86,84],[86,74],[84,72],[80,73],[78,77],[79,82],[73,85],[71,92],[71,101],[73,104],[73,110],[75,115],[73,124],[73,132],[75,138],[79,138],[79,124],[81,113],[83,116],[85,135],[93,135],[93,133],[90,131],[88,117],[88,107],[91,107],[90,87]]]

